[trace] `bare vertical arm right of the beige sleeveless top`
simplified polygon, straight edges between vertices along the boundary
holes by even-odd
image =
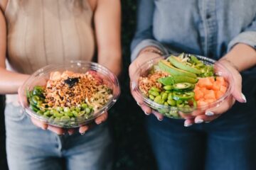
[[[117,76],[121,72],[121,6],[119,0],[99,0],[95,11],[98,62]]]

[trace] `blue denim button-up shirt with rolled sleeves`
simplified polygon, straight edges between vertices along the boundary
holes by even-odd
[[[146,46],[215,60],[239,42],[256,49],[256,0],[139,0],[137,12],[132,60]]]

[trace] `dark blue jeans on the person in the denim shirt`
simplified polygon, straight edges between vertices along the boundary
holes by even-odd
[[[255,170],[256,81],[244,79],[247,103],[236,103],[211,123],[183,127],[183,120],[146,119],[160,170]]]

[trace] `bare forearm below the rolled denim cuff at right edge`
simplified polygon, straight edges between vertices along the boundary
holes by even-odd
[[[231,62],[239,72],[249,69],[256,64],[256,50],[249,45],[239,43],[235,45],[227,55],[220,59],[220,61]]]

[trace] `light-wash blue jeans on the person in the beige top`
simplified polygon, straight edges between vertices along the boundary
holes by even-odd
[[[106,124],[85,135],[58,136],[31,123],[20,107],[6,105],[6,150],[9,169],[90,169],[112,166],[112,141]]]

